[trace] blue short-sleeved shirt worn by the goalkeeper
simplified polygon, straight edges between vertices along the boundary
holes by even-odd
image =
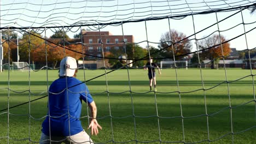
[[[79,120],[82,100],[89,104],[94,101],[84,83],[75,77],[57,79],[49,87],[48,100],[48,114],[50,113],[51,118],[50,125],[49,116],[45,118],[42,124],[42,132],[45,135],[69,136],[83,131]],[[51,133],[49,133],[49,127]]]

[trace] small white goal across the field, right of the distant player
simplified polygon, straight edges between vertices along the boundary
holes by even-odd
[[[161,68],[185,68],[188,69],[188,61],[161,61]]]

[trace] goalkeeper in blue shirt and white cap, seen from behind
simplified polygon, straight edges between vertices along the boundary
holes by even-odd
[[[91,135],[98,134],[97,108],[88,87],[75,78],[77,62],[65,57],[60,63],[59,79],[49,87],[48,115],[42,124],[40,144],[92,143],[80,122],[82,100],[90,107]],[[51,142],[50,142],[51,141]]]

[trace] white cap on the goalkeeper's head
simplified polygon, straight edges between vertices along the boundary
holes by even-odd
[[[77,61],[73,57],[65,57],[60,63],[60,76],[74,76]]]

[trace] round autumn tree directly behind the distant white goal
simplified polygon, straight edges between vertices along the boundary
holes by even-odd
[[[174,43],[173,47],[171,41]],[[178,32],[174,29],[171,30],[171,36],[170,32],[166,32],[161,35],[160,44],[158,47],[159,49],[163,49],[160,52],[161,57],[171,59],[173,59],[173,52],[174,56],[179,56],[189,53],[192,49],[191,42],[187,36],[184,33]],[[183,59],[183,57],[176,57],[176,60],[181,59]]]

